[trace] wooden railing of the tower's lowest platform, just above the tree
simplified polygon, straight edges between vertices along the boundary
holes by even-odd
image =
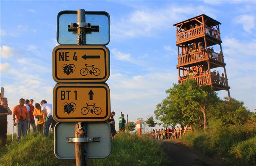
[[[226,78],[220,77],[217,75],[213,75],[213,74],[206,74],[206,75],[199,75],[196,77],[185,78],[185,79],[180,80],[179,82],[182,83],[182,82],[185,82],[190,79],[197,80],[197,83],[199,85],[212,83],[212,84],[217,84],[217,85],[221,85],[221,86],[228,86]]]

